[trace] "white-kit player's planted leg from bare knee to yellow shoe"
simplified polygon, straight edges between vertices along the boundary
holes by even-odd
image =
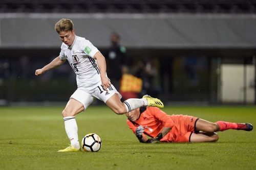
[[[65,124],[65,130],[68,138],[71,142],[70,146],[66,149],[59,150],[58,152],[74,152],[80,150],[80,144],[78,141],[78,128],[76,124],[75,115],[84,110],[82,103],[75,99],[70,99],[66,105],[66,108],[62,111],[62,116]]]

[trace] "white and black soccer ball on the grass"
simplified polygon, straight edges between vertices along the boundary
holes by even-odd
[[[97,152],[101,147],[101,139],[95,133],[89,133],[82,138],[82,149],[86,152]]]

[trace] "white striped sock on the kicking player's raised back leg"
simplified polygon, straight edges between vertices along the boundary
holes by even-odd
[[[147,106],[146,99],[127,99],[123,103],[127,112],[130,112],[131,110],[137,109],[141,106]]]

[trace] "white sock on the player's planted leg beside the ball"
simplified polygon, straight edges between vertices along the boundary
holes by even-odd
[[[78,141],[78,134],[77,134],[78,128],[77,128],[75,116],[63,117],[63,120],[65,124],[65,130],[69,137],[71,145],[76,149],[80,149],[80,144]]]

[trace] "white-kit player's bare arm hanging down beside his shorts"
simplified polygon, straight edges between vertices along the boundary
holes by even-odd
[[[103,89],[108,91],[107,88],[111,85],[110,80],[106,77],[106,60],[105,57],[100,53],[97,52],[94,57],[97,60],[99,71],[100,71],[100,78]]]

